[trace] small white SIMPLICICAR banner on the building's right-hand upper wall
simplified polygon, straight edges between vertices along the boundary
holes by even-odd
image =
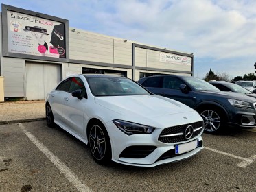
[[[192,65],[192,58],[186,56],[178,56],[170,53],[160,53],[160,62],[170,62],[172,64]]]

